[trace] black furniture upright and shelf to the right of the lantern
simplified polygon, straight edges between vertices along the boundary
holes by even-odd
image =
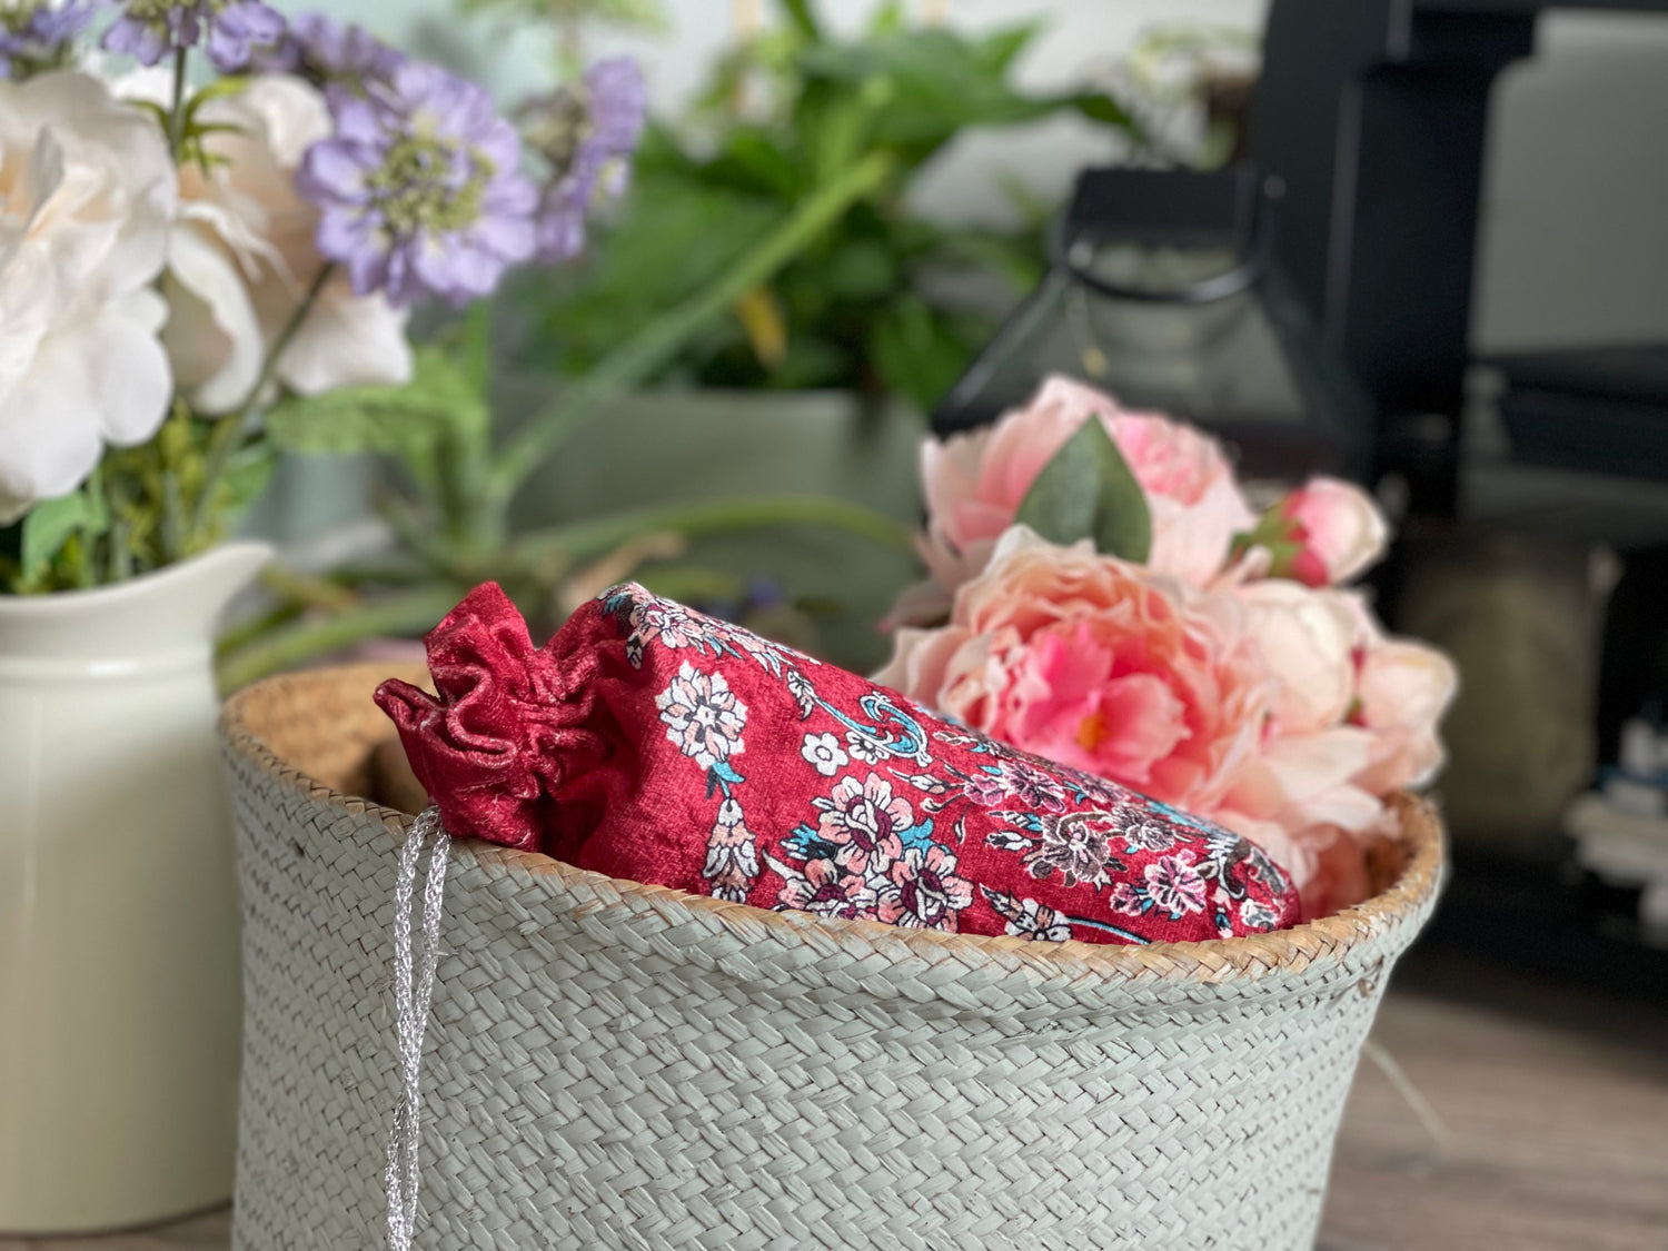
[[[1668,12],[1661,0],[1560,8]],[[1281,269],[1376,409],[1376,475],[1414,512],[1461,492],[1490,93],[1535,52],[1535,0],[1274,0],[1253,160],[1284,185]],[[1600,193],[1595,188],[1595,193]],[[1668,244],[1665,244],[1668,245]],[[1495,362],[1515,450],[1668,477],[1668,344]]]

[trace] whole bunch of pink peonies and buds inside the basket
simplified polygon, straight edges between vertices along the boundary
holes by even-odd
[[[1099,420],[1153,520],[1146,564],[1014,515],[1086,420]],[[1316,479],[1261,519],[1221,447],[1064,379],[1031,405],[922,454],[932,574],[907,592],[879,681],[992,737],[1218,821],[1259,842],[1323,916],[1366,891],[1384,799],[1443,762],[1449,661],[1384,634],[1339,584],[1388,527]]]

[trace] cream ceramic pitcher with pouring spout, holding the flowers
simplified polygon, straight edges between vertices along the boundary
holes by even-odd
[[[0,595],[0,1238],[232,1194],[239,907],[212,641],[225,544]]]

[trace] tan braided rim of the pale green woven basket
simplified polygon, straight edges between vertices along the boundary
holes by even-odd
[[[309,776],[282,759],[250,724],[250,716],[262,704],[274,701],[282,691],[327,689],[349,681],[372,684],[389,677],[400,666],[349,664],[279,674],[254,682],[234,692],[220,711],[220,736],[227,749],[242,756],[259,771],[275,777],[292,791],[342,807],[362,812],[379,821],[390,836],[390,849],[404,841],[415,817],[364,796],[345,794]],[[901,944],[927,959],[942,959],[954,952],[966,956],[999,956],[1002,964],[1029,967],[1032,972],[1056,979],[1061,974],[1101,976],[1116,979],[1178,976],[1203,981],[1226,981],[1244,976],[1264,976],[1273,971],[1296,972],[1319,959],[1339,956],[1361,946],[1401,922],[1418,917],[1439,892],[1446,872],[1446,849],[1441,817],[1424,797],[1398,792],[1389,797],[1401,831],[1406,861],[1398,877],[1379,894],[1353,907],[1306,921],[1291,929],[1266,934],[1248,934],[1231,939],[1193,942],[1151,942],[1124,946],[1111,942],[1037,942],[1006,934],[946,934],[939,931],[902,929],[874,921],[841,921],[807,914],[776,912],[752,904],[729,902],[697,896],[669,886],[636,882],[590,869],[579,869],[544,852],[525,852],[479,839],[459,839],[452,844],[454,856],[475,861],[494,876],[524,872],[547,877],[560,884],[585,882],[592,891],[607,887],[622,901],[642,901],[654,909],[682,907],[694,914],[707,914],[727,931],[749,931],[757,936],[761,927],[782,942],[806,942],[806,929],[839,936],[861,934],[871,941]]]

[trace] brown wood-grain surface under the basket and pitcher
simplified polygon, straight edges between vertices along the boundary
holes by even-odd
[[[1421,1123],[1386,1069],[1363,1061],[1319,1251],[1668,1251],[1668,1004],[1658,1007],[1476,969],[1403,979],[1373,1037],[1439,1124]],[[105,1238],[0,1238],[0,1251],[225,1251],[227,1228],[212,1213]]]

